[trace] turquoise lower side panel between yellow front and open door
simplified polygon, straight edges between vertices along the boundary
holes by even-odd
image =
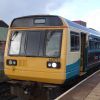
[[[73,64],[66,66],[66,78],[69,79],[71,77],[80,75],[80,59]]]

